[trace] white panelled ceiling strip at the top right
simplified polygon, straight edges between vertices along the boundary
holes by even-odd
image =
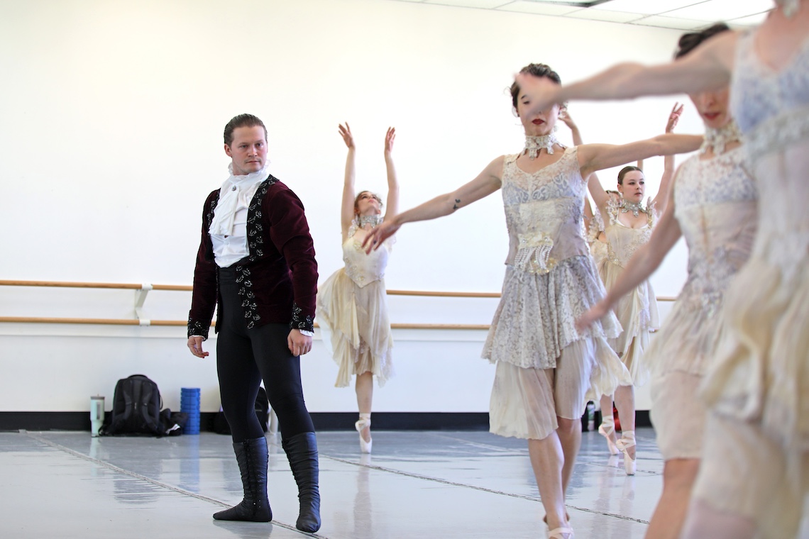
[[[761,23],[773,0],[392,0],[554,15],[611,23],[697,30],[723,21],[731,27]]]

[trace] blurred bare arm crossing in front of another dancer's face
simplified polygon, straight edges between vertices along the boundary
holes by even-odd
[[[722,32],[701,44],[693,53],[668,64],[614,65],[591,78],[560,86],[549,78],[517,75],[520,94],[527,95],[526,114],[537,114],[573,99],[633,99],[643,95],[696,94],[731,82],[736,32]]]

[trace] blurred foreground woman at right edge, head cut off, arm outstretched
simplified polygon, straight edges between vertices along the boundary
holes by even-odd
[[[809,0],[775,3],[760,27],[725,32],[670,64],[616,65],[566,87],[526,79],[536,110],[731,85],[758,229],[725,294],[701,386],[709,416],[688,539],[796,537],[809,498]]]

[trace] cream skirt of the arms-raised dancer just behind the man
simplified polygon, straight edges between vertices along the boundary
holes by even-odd
[[[355,374],[371,372],[382,386],[393,376],[391,322],[384,280],[363,287],[345,273],[334,272],[317,292],[317,322],[331,341],[337,362],[337,387]]]

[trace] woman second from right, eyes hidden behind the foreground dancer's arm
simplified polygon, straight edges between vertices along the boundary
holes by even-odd
[[[729,30],[719,23],[685,34],[676,58]],[[685,237],[688,280],[645,356],[653,370],[651,418],[664,461],[663,495],[646,533],[650,539],[680,537],[705,430],[706,411],[697,387],[716,355],[725,290],[748,260],[756,234],[756,186],[741,133],[728,112],[729,89],[690,97],[705,123],[705,143],[677,172],[670,211],[650,242],[581,322],[587,324],[611,309],[659,267],[681,235]]]

